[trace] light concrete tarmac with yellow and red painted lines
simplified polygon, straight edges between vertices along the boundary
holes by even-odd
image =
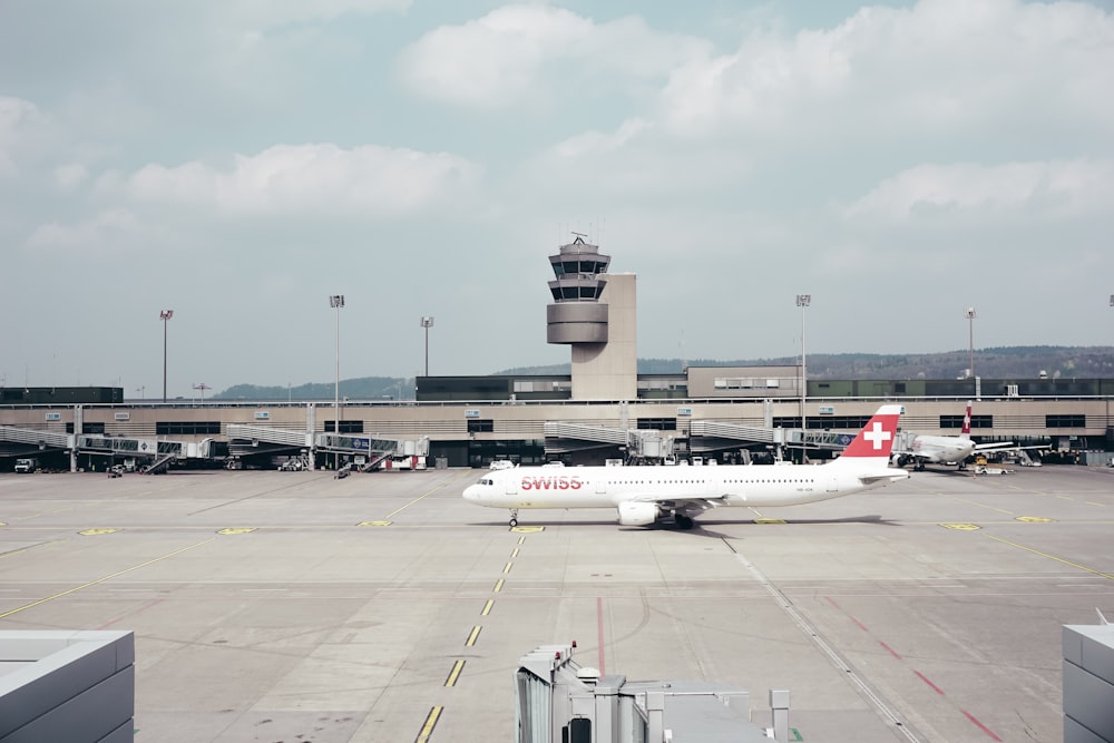
[[[0,476],[0,629],[136,634],[135,739],[512,741],[538,645],[789,690],[799,741],[1063,740],[1114,618],[1114,469],[947,469],[691,531],[463,501],[480,470]]]

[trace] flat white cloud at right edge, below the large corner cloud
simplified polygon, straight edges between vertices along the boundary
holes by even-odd
[[[1111,160],[965,163],[905,170],[852,204],[844,216],[891,222],[981,211],[1075,217],[1112,207]]]

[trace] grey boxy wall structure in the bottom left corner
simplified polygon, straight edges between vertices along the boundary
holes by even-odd
[[[0,743],[135,740],[135,635],[0,632]]]

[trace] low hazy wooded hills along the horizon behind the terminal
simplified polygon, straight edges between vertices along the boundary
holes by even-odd
[[[780,359],[639,359],[639,374],[680,374],[690,366],[792,366],[799,356]],[[956,379],[970,364],[968,351],[939,353],[810,353],[809,379]],[[516,366],[497,375],[568,374],[569,364]],[[986,379],[1114,377],[1114,346],[1016,345],[975,350],[975,372]],[[236,384],[212,395],[213,400],[332,400],[334,382],[297,387]],[[341,398],[351,400],[413,400],[413,378],[363,377],[342,379]]]

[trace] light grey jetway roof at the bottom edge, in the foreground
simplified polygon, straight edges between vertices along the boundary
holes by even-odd
[[[627,681],[573,659],[576,644],[543,645],[515,674],[516,743],[756,743],[789,741],[789,692],[771,691],[773,727],[750,722],[742,688]]]

